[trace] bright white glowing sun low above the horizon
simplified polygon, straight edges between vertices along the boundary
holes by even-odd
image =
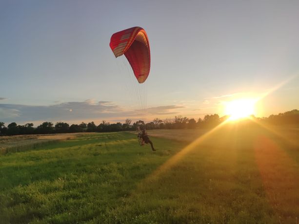
[[[238,120],[255,114],[256,99],[237,99],[225,102],[225,114],[229,120]]]

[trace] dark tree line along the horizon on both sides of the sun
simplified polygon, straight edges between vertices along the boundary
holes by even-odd
[[[33,127],[33,123],[18,125],[12,122],[5,126],[4,122],[0,122],[0,135],[17,135],[17,134],[52,134],[52,133],[76,133],[76,132],[112,132],[112,131],[135,131],[137,127],[143,127],[146,130],[152,129],[197,129],[197,128],[213,128],[226,120],[228,116],[219,117],[218,114],[207,114],[204,118],[199,118],[197,121],[194,118],[175,116],[161,120],[155,118],[153,121],[145,123],[142,120],[132,123],[132,120],[127,118],[124,123],[117,122],[110,124],[102,121],[96,125],[93,121],[89,123],[82,122],[81,124],[69,125],[65,122],[57,122],[55,125],[52,122],[43,122],[38,127]],[[277,115],[270,115],[267,118],[256,118],[260,121],[271,124],[299,124],[299,111],[293,110]]]

